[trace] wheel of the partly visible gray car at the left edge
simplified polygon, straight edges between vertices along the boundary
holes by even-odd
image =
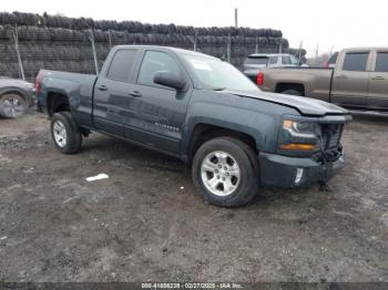
[[[6,93],[0,96],[0,116],[17,118],[27,110],[25,99],[16,93]]]

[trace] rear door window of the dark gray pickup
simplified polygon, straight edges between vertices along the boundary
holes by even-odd
[[[132,76],[132,66],[136,59],[137,50],[119,50],[113,55],[106,77],[115,81],[127,82]]]

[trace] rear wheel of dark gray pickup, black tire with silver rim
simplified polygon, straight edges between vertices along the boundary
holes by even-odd
[[[64,143],[55,138],[58,130],[55,124],[62,124],[65,131]],[[64,154],[78,153],[82,145],[82,134],[79,126],[74,123],[70,112],[55,113],[51,118],[51,137],[55,147]],[[63,138],[62,138],[63,139]]]

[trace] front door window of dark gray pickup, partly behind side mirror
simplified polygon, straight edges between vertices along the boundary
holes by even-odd
[[[142,66],[140,68],[137,83],[154,85],[154,75],[157,72],[170,72],[176,75],[181,74],[181,70],[175,60],[167,53],[147,51],[144,55]]]

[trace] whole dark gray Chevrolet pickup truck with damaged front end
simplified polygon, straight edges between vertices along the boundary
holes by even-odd
[[[346,110],[263,93],[202,53],[115,46],[99,76],[42,70],[35,89],[60,152],[96,131],[175,156],[217,206],[244,205],[265,185],[326,182],[344,165]]]

